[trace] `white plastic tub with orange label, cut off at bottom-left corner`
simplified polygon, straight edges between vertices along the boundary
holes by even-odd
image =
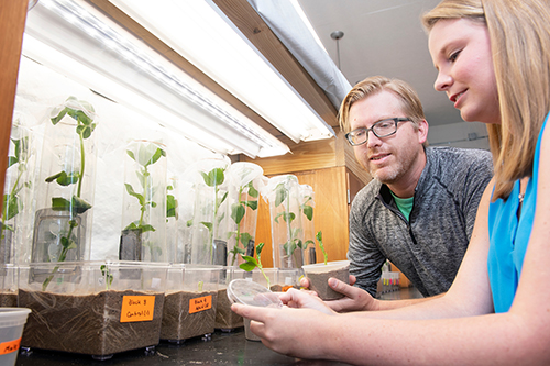
[[[23,326],[30,312],[31,309],[26,308],[0,308],[0,365],[15,365]]]

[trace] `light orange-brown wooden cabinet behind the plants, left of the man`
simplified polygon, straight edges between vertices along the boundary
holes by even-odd
[[[292,146],[292,143],[288,143]],[[350,202],[370,180],[369,174],[355,160],[352,147],[338,132],[336,138],[300,143],[290,147],[293,154],[280,157],[242,160],[255,163],[264,168],[264,175],[273,177],[293,174],[301,185],[309,185],[315,192],[314,223],[322,231],[323,244],[329,260],[346,258],[349,244]],[[256,243],[264,242],[262,263],[273,266],[271,219],[268,204],[262,200],[258,207]],[[322,254],[317,244],[317,262]]]

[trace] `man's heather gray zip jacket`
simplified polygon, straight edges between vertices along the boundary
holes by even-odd
[[[373,179],[350,213],[350,274],[376,295],[389,259],[424,296],[451,286],[466,251],[477,206],[493,176],[491,154],[481,149],[428,147],[409,221],[389,188]]]

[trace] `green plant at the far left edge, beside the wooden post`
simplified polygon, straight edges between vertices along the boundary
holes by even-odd
[[[19,193],[23,188],[31,188],[31,181],[22,181],[23,175],[26,171],[29,158],[30,158],[30,146],[29,146],[29,137],[23,136],[19,140],[11,138],[11,142],[15,146],[14,155],[8,156],[8,168],[15,166],[18,169],[18,176],[15,178],[15,182],[11,188],[9,193],[3,195],[3,204],[2,204],[2,229],[1,229],[1,237],[3,240],[6,237],[6,231],[13,232],[15,229],[8,224],[8,221],[13,219],[19,214],[22,209],[23,202]]]

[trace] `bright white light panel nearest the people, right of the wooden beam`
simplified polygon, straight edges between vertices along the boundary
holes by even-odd
[[[294,142],[333,130],[211,0],[111,0]]]

